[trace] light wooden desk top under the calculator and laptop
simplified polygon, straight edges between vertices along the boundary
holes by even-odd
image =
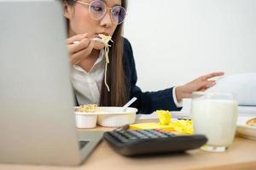
[[[154,122],[139,120],[137,122]],[[112,128],[97,127],[101,130]],[[1,154],[1,153],[0,153]],[[0,170],[171,170],[171,169],[256,169],[256,141],[236,137],[224,153],[189,150],[184,154],[124,157],[102,141],[90,157],[79,167],[52,167],[0,164]]]

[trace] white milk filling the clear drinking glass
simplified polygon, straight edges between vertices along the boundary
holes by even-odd
[[[205,134],[207,145],[230,145],[236,132],[237,110],[233,100],[193,99],[191,116],[195,133]]]

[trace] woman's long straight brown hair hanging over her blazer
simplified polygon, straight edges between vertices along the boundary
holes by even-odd
[[[68,5],[73,6],[74,0],[63,0]],[[122,7],[127,8],[126,0],[121,0]],[[67,20],[67,28],[68,28]],[[104,81],[102,81],[102,94],[100,105],[103,106],[122,106],[125,105],[127,100],[125,89],[125,72],[123,68],[123,51],[124,51],[124,38],[122,37],[123,24],[117,26],[113,32],[113,44],[109,49],[109,65],[107,72],[107,82],[110,87],[110,92],[106,88]]]

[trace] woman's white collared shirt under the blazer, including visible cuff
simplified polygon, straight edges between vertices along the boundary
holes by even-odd
[[[89,72],[84,71],[79,65],[73,65],[71,82],[79,105],[100,105],[105,63],[104,50],[101,50],[99,58]],[[177,107],[182,107],[182,102],[177,102],[175,88],[172,89],[172,98]]]

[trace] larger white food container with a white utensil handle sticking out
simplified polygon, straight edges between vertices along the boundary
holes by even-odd
[[[103,127],[121,127],[131,124],[136,119],[136,108],[128,107],[126,111],[121,111],[122,107],[99,107],[97,124]]]

